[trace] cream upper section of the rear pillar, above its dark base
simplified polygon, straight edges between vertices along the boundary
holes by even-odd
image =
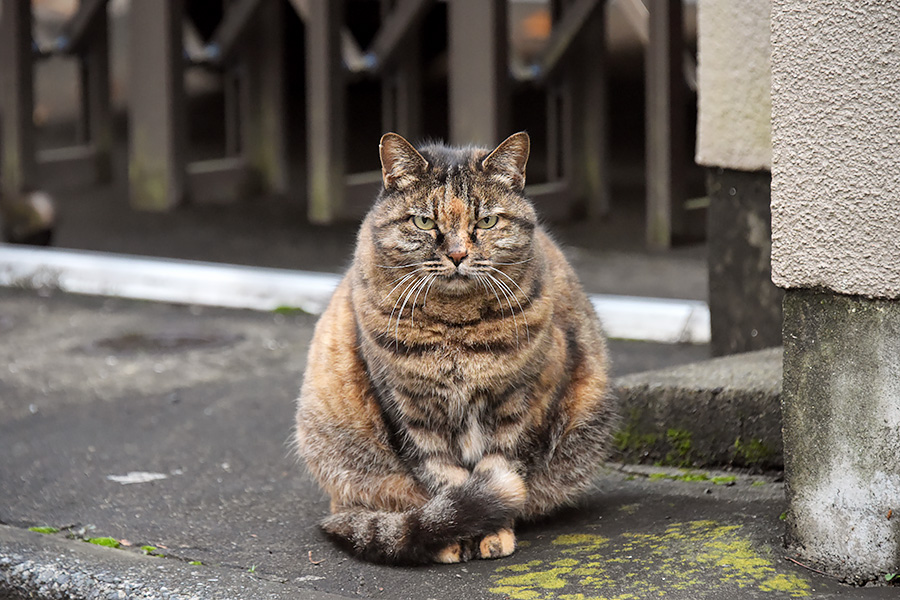
[[[771,0],[700,0],[697,162],[740,171],[772,164]]]

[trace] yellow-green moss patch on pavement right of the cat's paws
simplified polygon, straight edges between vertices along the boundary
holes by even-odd
[[[555,560],[498,567],[490,591],[515,600],[626,600],[673,591],[702,599],[740,589],[778,598],[810,596],[809,581],[776,569],[772,557],[741,534],[742,527],[690,521],[613,539],[561,535],[551,542],[559,548]]]

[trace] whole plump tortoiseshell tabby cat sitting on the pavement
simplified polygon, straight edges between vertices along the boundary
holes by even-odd
[[[524,195],[530,139],[379,146],[383,189],[322,314],[296,445],[363,559],[508,556],[610,446],[600,322]]]

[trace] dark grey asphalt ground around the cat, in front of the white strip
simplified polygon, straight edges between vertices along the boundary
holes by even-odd
[[[610,466],[508,559],[360,563],[289,446],[313,322],[0,290],[0,598],[896,597],[785,560],[772,477],[656,468]],[[705,351],[612,344],[619,374]]]

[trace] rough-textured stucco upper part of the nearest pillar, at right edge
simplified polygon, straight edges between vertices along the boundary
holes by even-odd
[[[773,0],[772,278],[900,298],[900,3]]]

